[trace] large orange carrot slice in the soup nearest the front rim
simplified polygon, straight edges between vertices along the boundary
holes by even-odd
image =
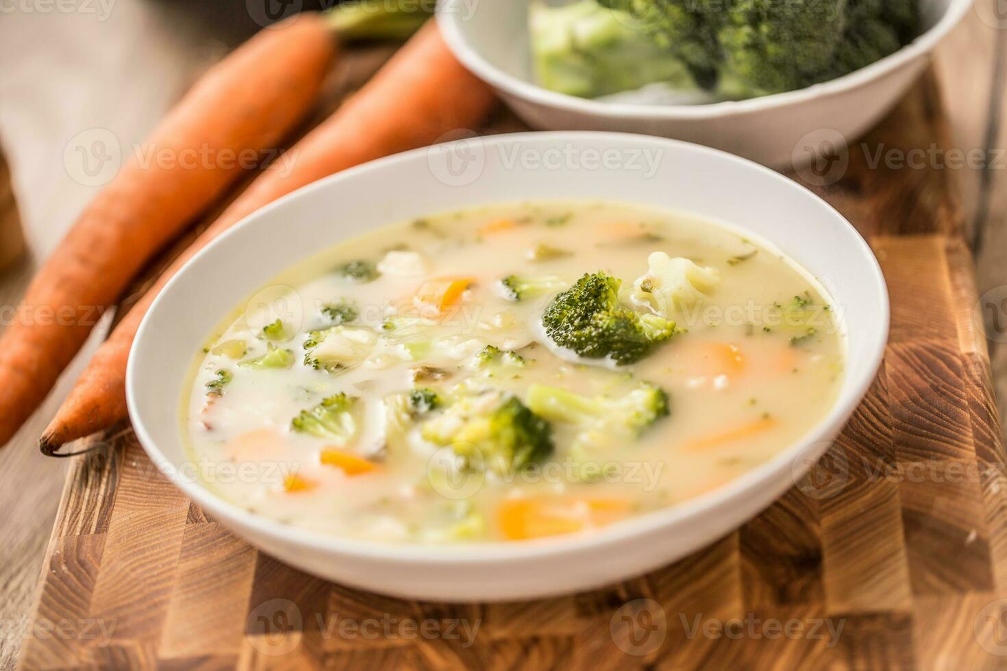
[[[628,513],[628,504],[620,499],[529,497],[505,499],[497,519],[506,537],[522,540],[604,526]]]

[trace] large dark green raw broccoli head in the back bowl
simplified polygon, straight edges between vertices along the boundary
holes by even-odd
[[[600,0],[634,16],[724,98],[803,89],[868,65],[919,30],[917,0]]]

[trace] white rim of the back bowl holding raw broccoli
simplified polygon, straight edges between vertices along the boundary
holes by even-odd
[[[907,65],[911,60],[929,52],[938,42],[944,39],[945,35],[951,32],[952,28],[958,25],[968,8],[973,4],[972,0],[949,0],[948,8],[941,19],[929,29],[917,35],[911,42],[870,65],[835,79],[815,83],[797,91],[749,98],[743,101],[721,101],[706,105],[640,105],[606,103],[588,98],[577,98],[549,91],[505,72],[486,60],[466,39],[465,31],[461,28],[463,22],[460,18],[461,12],[455,10],[459,2],[463,2],[463,0],[444,0],[437,3],[437,24],[448,48],[454,52],[465,67],[480,79],[506,94],[538,105],[569,110],[593,117],[648,121],[716,119],[763,110],[775,110],[852,91]]]

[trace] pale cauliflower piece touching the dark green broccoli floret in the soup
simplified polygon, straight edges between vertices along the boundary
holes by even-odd
[[[632,283],[629,301],[665,317],[693,307],[720,283],[716,269],[672,259],[664,251],[651,254],[646,264],[646,274]]]

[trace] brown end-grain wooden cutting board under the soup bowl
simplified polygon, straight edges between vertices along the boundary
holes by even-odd
[[[386,55],[347,58],[327,108]],[[869,239],[891,293],[891,337],[833,450],[737,531],[563,598],[391,599],[250,547],[168,484],[126,428],[73,464],[21,666],[1007,666],[1004,451],[952,175],[872,166],[878,148],[897,158],[948,146],[936,92],[925,75],[851,147],[839,177],[833,164],[797,176]],[[500,111],[483,130],[524,129]]]

